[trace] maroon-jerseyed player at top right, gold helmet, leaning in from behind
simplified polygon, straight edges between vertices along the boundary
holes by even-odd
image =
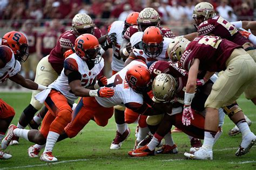
[[[241,45],[256,62],[256,49],[254,45],[250,42],[250,40],[242,36],[237,28],[232,25],[232,23],[226,21],[226,19],[220,16],[217,16],[212,4],[207,2],[197,4],[194,7],[192,17],[195,20],[194,25],[198,29],[199,36],[213,35],[228,39],[233,43]],[[244,23],[245,28],[247,25],[248,23]],[[256,96],[253,96],[253,93],[251,93],[251,91],[254,89],[256,89],[256,81],[247,87],[245,90],[245,97],[252,100],[252,102],[256,105]],[[250,124],[250,122],[251,120],[248,119],[248,124]],[[235,135],[237,133],[239,133],[239,131],[237,131],[237,128],[234,127],[228,134]]]

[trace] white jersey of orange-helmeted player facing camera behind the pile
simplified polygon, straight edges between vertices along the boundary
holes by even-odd
[[[142,41],[142,37],[143,37],[143,32],[136,32],[132,35],[130,39],[131,45],[133,47],[132,52],[138,59],[142,59],[146,63],[157,61],[157,60],[170,61],[170,58],[167,55],[167,48],[172,40],[171,38],[164,37],[163,51],[160,53],[158,57],[151,58],[146,55],[143,49],[136,49],[134,47],[134,45]]]

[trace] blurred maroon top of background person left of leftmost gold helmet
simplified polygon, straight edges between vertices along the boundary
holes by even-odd
[[[57,44],[58,32],[51,30],[42,33],[40,37],[42,39],[42,53],[48,55]]]

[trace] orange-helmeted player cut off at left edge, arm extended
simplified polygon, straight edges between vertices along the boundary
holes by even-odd
[[[11,31],[5,33],[2,38],[2,45],[0,46],[0,83],[4,83],[9,78],[27,89],[42,91],[46,88],[45,86],[25,79],[18,73],[21,71],[21,64],[19,62],[25,62],[29,57],[28,47],[28,40],[21,32]],[[0,141],[4,138],[14,115],[14,108],[0,99]],[[0,159],[10,159],[11,155],[4,153],[2,149],[0,147]]]

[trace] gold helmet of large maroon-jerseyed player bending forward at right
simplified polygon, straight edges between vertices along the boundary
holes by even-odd
[[[167,48],[167,54],[172,62],[180,61],[180,57],[185,51],[190,41],[184,37],[175,37]]]

